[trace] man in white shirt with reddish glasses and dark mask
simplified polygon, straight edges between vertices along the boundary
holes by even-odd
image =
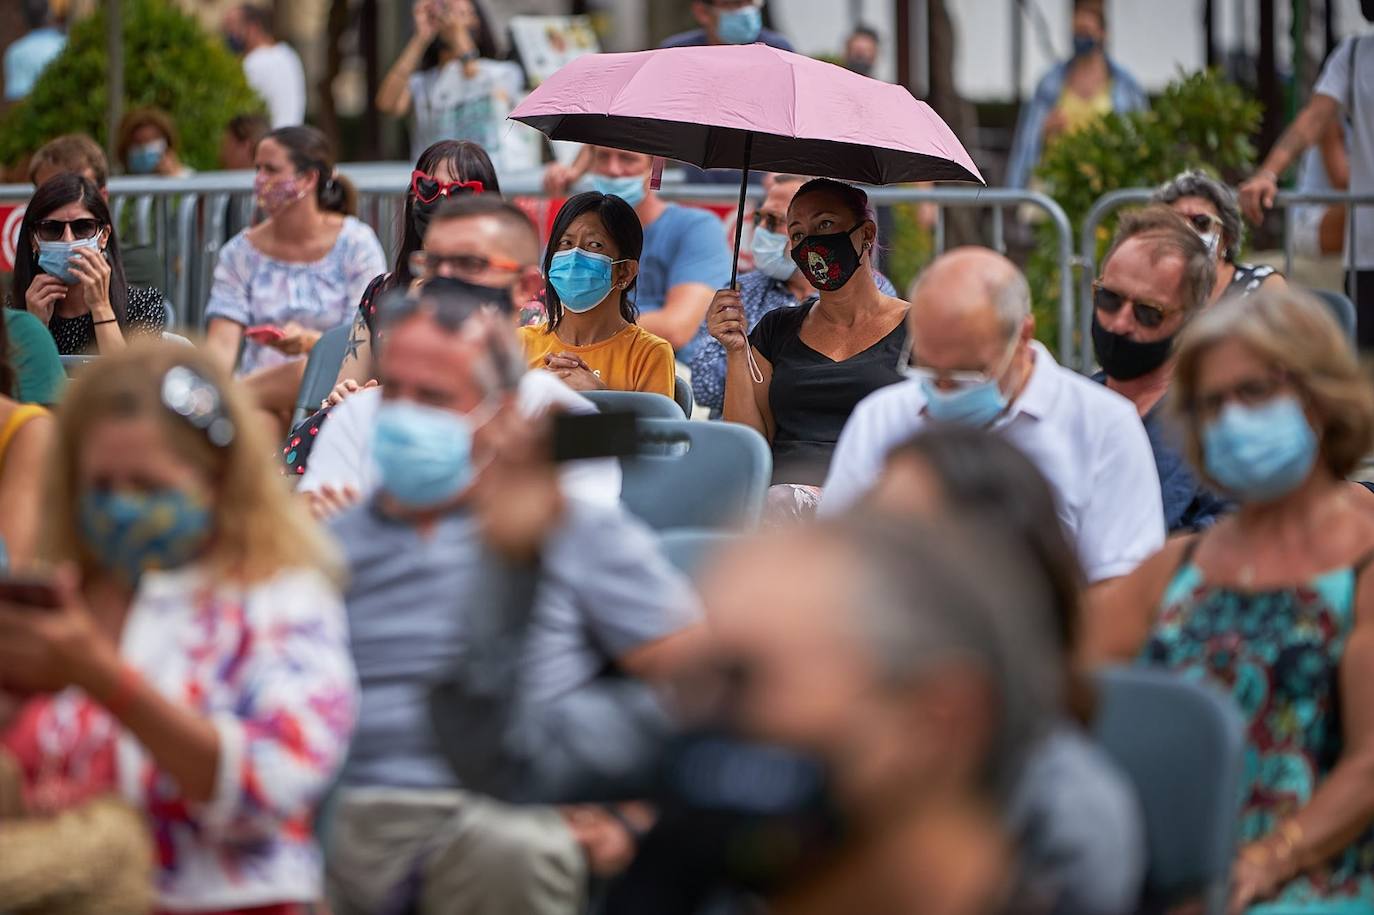
[[[423,249],[411,261],[411,272],[416,290],[426,280],[456,282],[511,315],[513,324],[517,309],[544,284],[534,224],[514,203],[485,194],[455,198],[438,209],[425,232]],[[517,397],[530,416],[554,408],[578,415],[596,412],[589,400],[545,371],[525,374]],[[382,392],[372,382],[335,405],[320,426],[297,488],[317,517],[330,517],[376,489],[372,433],[381,403]],[[562,479],[567,492],[581,499],[603,504],[620,500],[620,464],[613,459],[569,462]]]

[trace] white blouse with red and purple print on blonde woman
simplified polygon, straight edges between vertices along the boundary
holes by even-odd
[[[76,690],[30,702],[0,746],[49,806],[110,787],[147,817],[158,905],[214,912],[322,893],[315,808],[342,765],[357,675],[338,591],[287,570],[251,587],[147,573],[120,640],[133,670],[218,735],[214,794],[188,801],[135,736]]]

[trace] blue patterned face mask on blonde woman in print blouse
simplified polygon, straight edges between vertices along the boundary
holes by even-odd
[[[181,489],[88,489],[80,512],[87,547],[128,584],[136,584],[144,572],[176,569],[195,559],[214,525],[209,501]]]

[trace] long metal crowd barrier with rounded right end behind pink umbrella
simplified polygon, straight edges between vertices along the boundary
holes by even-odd
[[[345,163],[339,166],[359,194],[359,218],[370,224],[382,242],[387,262],[396,257],[397,223],[409,187],[407,162]],[[111,216],[121,227],[124,245],[153,245],[164,265],[164,291],[177,310],[177,326],[199,330],[210,295],[220,247],[232,236],[229,229],[249,224],[253,206],[250,172],[205,172],[184,179],[115,177],[110,180]],[[944,207],[991,210],[988,245],[1006,250],[1004,209],[1029,205],[1041,210],[1055,227],[1059,262],[1058,357],[1076,364],[1076,301],[1073,290],[1073,229],[1063,209],[1044,194],[1010,188],[978,187],[879,187],[866,188],[875,207],[899,203],[934,203],[940,217],[934,228],[934,250],[944,250]],[[32,195],[27,184],[0,184],[0,203],[22,202]],[[502,176],[507,198],[544,199],[541,173]],[[691,201],[734,206],[738,185],[665,183],[660,191],[669,201]],[[551,216],[551,214],[550,214]],[[236,231],[236,229],[235,229]]]

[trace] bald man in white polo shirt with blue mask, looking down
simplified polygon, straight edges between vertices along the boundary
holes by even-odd
[[[1054,361],[1035,339],[1030,290],[1000,254],[962,247],[912,290],[911,378],[855,409],[830,464],[822,514],[860,501],[888,451],[927,423],[1006,436],[1054,489],[1090,584],[1127,574],[1164,544],[1150,440],[1135,407]]]

